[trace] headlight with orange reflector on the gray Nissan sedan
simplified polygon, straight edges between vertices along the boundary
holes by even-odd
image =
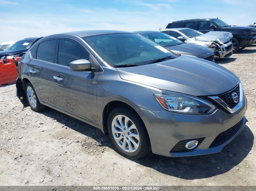
[[[182,114],[209,114],[216,107],[206,100],[191,95],[162,90],[162,95],[154,94],[158,103],[167,111]]]

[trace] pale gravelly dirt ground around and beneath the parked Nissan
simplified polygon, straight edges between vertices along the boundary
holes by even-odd
[[[23,109],[14,84],[0,87],[0,185],[256,185],[256,46],[216,63],[241,79],[248,123],[222,152],[196,157],[126,159],[99,129]]]

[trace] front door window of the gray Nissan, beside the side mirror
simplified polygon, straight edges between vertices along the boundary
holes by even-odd
[[[69,66],[70,62],[80,59],[89,60],[89,53],[73,41],[59,41],[58,64]]]

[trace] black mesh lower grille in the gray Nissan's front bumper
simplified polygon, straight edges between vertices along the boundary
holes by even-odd
[[[217,146],[223,144],[224,142],[228,141],[231,137],[233,137],[233,136],[238,132],[238,130],[240,129],[240,128],[239,128],[239,123],[240,123],[240,122],[238,122],[237,124],[235,124],[235,125],[232,126],[231,128],[227,129],[226,131],[221,132],[221,133],[213,140],[213,142],[211,143],[211,145],[210,145],[209,148],[217,147]]]

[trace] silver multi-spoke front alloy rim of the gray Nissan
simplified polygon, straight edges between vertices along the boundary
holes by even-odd
[[[118,146],[126,152],[135,152],[140,144],[140,136],[135,124],[124,115],[117,115],[112,121],[112,134]]]

